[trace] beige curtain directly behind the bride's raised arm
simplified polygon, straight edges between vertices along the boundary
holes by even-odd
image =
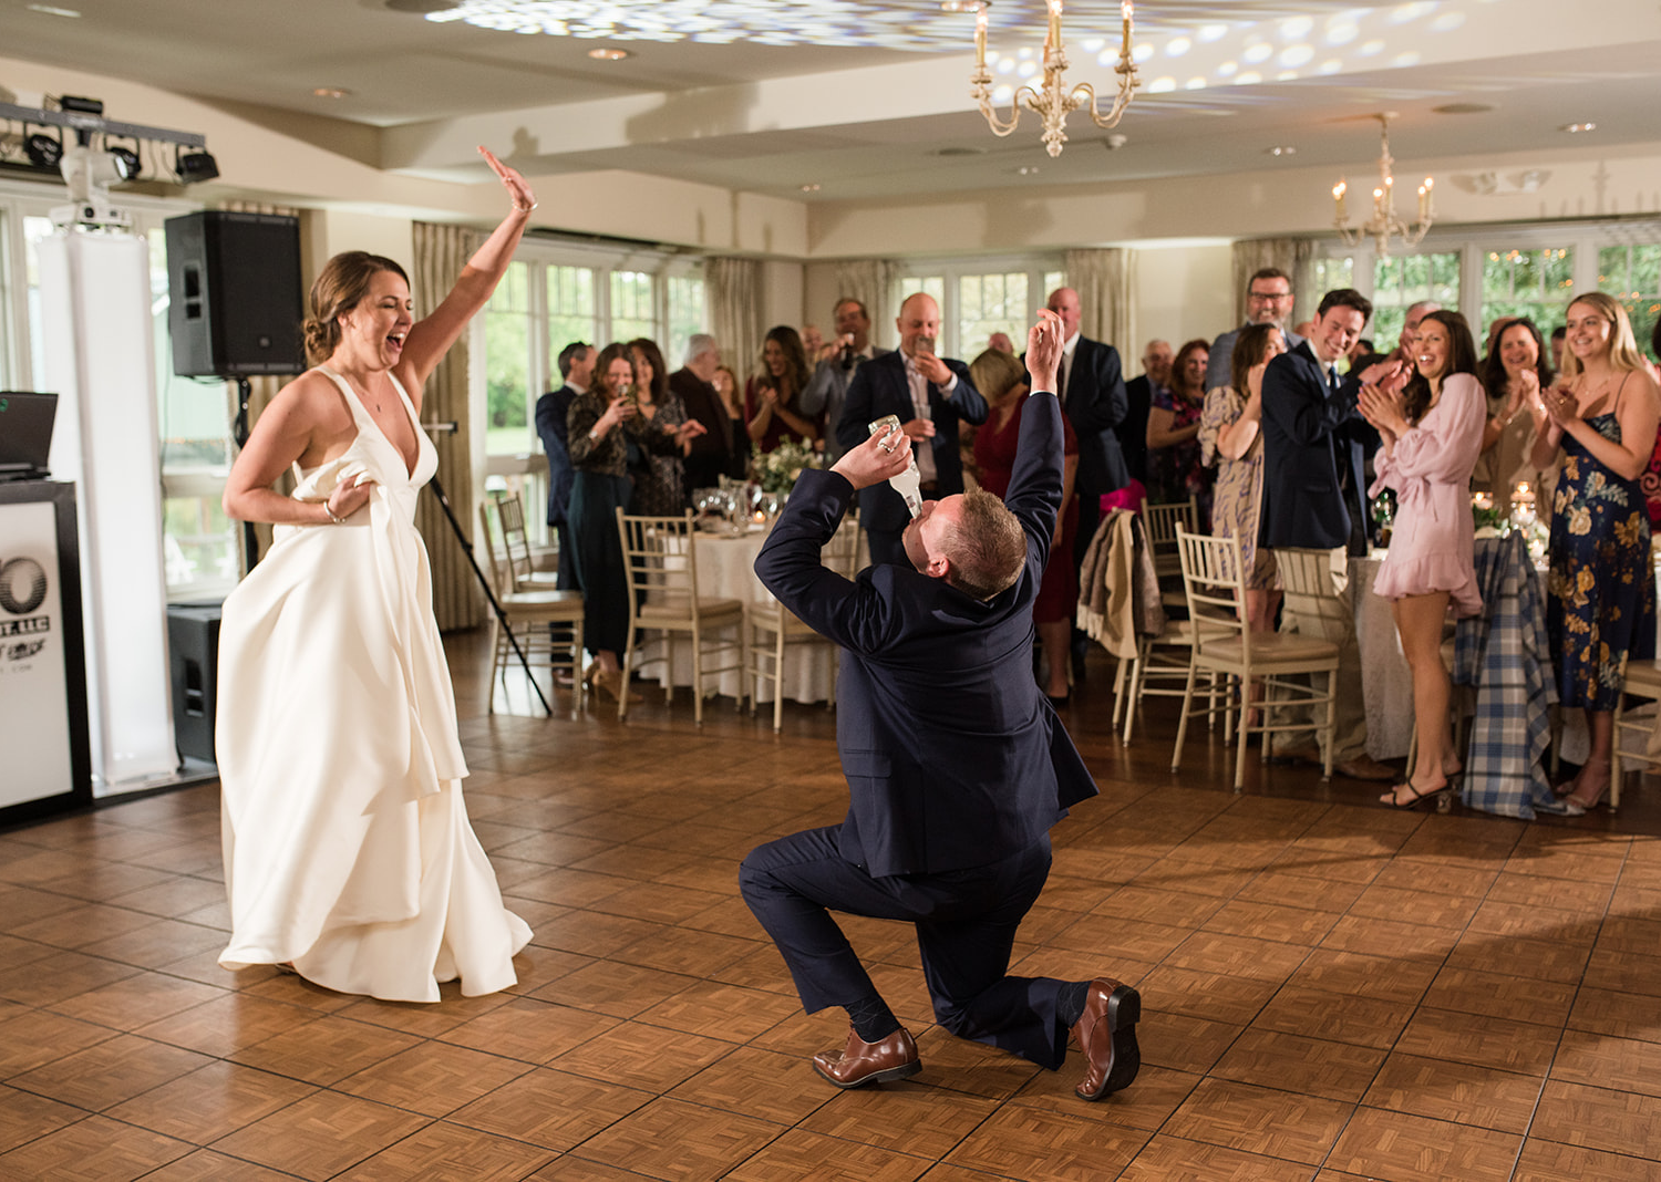
[[[478,249],[480,236],[465,226],[414,224],[415,317],[430,314],[455,286],[462,267]],[[468,540],[478,516],[475,506],[472,468],[472,430],[467,413],[467,334],[463,332],[439,369],[427,379],[420,417],[424,423],[455,423],[455,432],[435,432],[439,450],[439,480],[450,495],[450,506]],[[415,528],[427,543],[432,558],[432,611],[440,629],[473,628],[485,623],[485,598],[478,578],[467,561],[467,553],[455,541],[455,533],[443,516],[439,496],[429,488],[415,503]]]

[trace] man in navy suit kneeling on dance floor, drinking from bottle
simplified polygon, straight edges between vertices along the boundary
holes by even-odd
[[[905,530],[910,564],[849,583],[821,549],[855,491],[904,470],[912,440],[879,435],[829,471],[802,473],[756,559],[767,589],[842,646],[847,818],[769,842],[739,870],[802,1006],[847,1009],[847,1044],[814,1056],[837,1087],[922,1064],[827,908],[914,923],[935,1019],[953,1034],[1050,1069],[1076,1036],[1083,1099],[1128,1086],[1141,1062],[1133,988],[1008,976],[1015,931],[1050,873],[1050,827],[1096,794],[1031,677],[1031,606],[1061,505],[1061,407],[1048,393],[1060,320],[1040,317],[1003,501],[977,490],[925,503]]]

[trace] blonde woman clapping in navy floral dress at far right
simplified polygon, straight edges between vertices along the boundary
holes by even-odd
[[[1591,750],[1560,789],[1578,817],[1610,787],[1621,657],[1654,651],[1649,515],[1639,480],[1656,447],[1661,392],[1626,309],[1603,292],[1568,305],[1563,372],[1535,412],[1533,463],[1563,453],[1551,501],[1546,633],[1558,701],[1586,711]]]

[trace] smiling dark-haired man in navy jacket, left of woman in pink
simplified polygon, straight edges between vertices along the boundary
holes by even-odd
[[[1262,511],[1259,545],[1330,549],[1337,578],[1345,558],[1367,553],[1367,495],[1364,466],[1377,433],[1355,410],[1360,387],[1379,382],[1395,367],[1372,365],[1339,377],[1335,362],[1360,339],[1372,302],[1350,287],[1327,292],[1307,340],[1269,362],[1262,375]],[[1347,579],[1347,574],[1344,576]],[[1354,780],[1389,780],[1394,772],[1367,755],[1367,712],[1362,702],[1360,651],[1350,599],[1335,601],[1342,618],[1297,619],[1287,604],[1282,628],[1312,629],[1339,646],[1337,732],[1332,765]],[[1284,755],[1320,762],[1314,745]]]

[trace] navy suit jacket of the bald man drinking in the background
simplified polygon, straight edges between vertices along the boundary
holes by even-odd
[[[928,440],[914,440],[915,447],[933,450],[938,488],[928,495],[930,500],[963,491],[963,457],[957,447],[958,420],[987,422],[987,400],[968,380],[968,367],[953,357],[940,360],[957,374],[957,385],[947,397],[933,382],[928,383],[928,417],[933,420],[935,433]],[[854,380],[847,383],[847,398],[842,403],[842,418],[832,423],[837,443],[844,452],[859,447],[870,437],[869,423],[884,415],[899,415],[902,423],[917,418],[912,385],[905,377],[905,355],[899,350],[872,357],[854,370]],[[872,485],[859,495],[859,523],[867,530],[897,535],[910,525],[910,520],[905,501],[887,483]]]

